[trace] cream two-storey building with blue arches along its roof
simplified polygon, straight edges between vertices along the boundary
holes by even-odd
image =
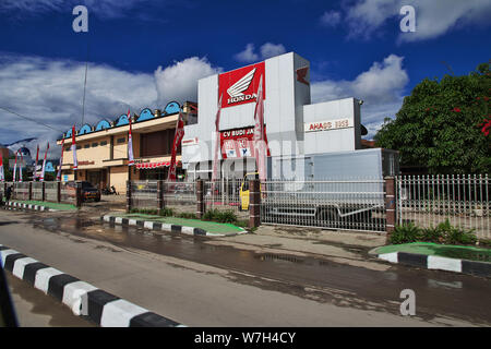
[[[129,120],[121,115],[115,121],[100,120],[96,125],[84,124],[76,130],[75,144],[79,168],[73,170],[71,152],[72,131],[64,136],[61,180],[88,181],[104,189],[115,186],[125,193],[127,180],[167,179],[179,111],[185,123],[196,120],[195,104],[185,103],[182,108],[169,103],[163,110],[143,109],[132,116],[132,143],[134,166],[128,166]],[[57,144],[61,146],[61,139]],[[177,174],[183,176],[181,148],[177,149]]]

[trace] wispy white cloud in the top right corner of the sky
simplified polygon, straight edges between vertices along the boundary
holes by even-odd
[[[410,4],[416,9],[416,32],[400,33],[399,41],[431,39],[467,25],[489,25],[490,0],[359,0],[346,10],[349,37],[372,36],[390,20],[400,32],[399,10]]]

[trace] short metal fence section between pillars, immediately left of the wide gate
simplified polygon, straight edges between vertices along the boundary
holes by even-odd
[[[248,210],[241,209],[240,188],[243,179],[223,179],[204,183],[205,210],[232,210],[240,219],[249,217]]]

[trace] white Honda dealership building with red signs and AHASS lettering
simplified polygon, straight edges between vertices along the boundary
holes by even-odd
[[[361,148],[360,100],[345,98],[312,105],[310,63],[289,52],[199,81],[197,122],[184,128],[182,141],[182,165],[190,179],[211,178],[220,96],[219,172],[242,178],[255,170],[250,151],[261,76],[271,156]]]

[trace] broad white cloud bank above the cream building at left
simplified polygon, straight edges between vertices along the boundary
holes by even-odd
[[[196,100],[196,80],[216,70],[206,59],[189,58],[155,73],[127,72],[104,64],[88,64],[84,123],[110,121],[128,108],[164,108],[171,99],[180,104]],[[26,137],[38,141],[26,144],[31,153],[37,143],[51,144],[50,154],[61,132],[76,122],[81,127],[85,63],[50,60],[40,57],[0,56],[0,107],[51,125],[55,130],[15,117],[0,109],[0,143]]]

